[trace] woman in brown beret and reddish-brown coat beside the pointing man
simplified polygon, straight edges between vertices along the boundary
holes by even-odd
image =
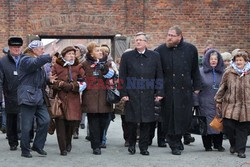
[[[72,135],[82,116],[80,92],[86,88],[86,84],[78,82],[85,79],[85,72],[75,53],[72,46],[64,48],[52,67],[52,75],[57,76],[52,88],[63,104],[63,114],[55,118],[57,140],[63,156],[71,151]]]

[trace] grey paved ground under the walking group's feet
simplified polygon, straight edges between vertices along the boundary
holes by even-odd
[[[40,157],[32,152],[33,158],[27,159],[20,156],[20,147],[17,151],[9,151],[5,134],[0,134],[0,167],[250,167],[249,147],[245,159],[229,153],[228,140],[224,140],[225,152],[205,152],[201,137],[196,135],[196,141],[185,146],[181,156],[172,155],[169,147],[158,148],[156,139],[149,147],[150,156],[140,155],[138,147],[135,155],[129,155],[127,148],[123,146],[119,115],[110,124],[107,148],[102,149],[102,155],[92,154],[85,136],[86,130],[80,130],[80,138],[73,140],[72,151],[65,157],[59,155],[56,135],[48,135],[45,146],[47,157]]]

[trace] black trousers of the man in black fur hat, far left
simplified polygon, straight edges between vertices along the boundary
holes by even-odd
[[[10,146],[18,146],[18,117],[19,114],[7,113],[7,136]]]

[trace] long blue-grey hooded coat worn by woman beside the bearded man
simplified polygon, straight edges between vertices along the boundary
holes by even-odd
[[[214,96],[221,82],[224,72],[224,63],[220,53],[217,52],[218,64],[213,70],[209,62],[210,54],[212,52],[217,51],[211,49],[206,52],[205,56],[203,57],[203,67],[200,69],[202,87],[199,93],[199,106],[201,115],[206,116],[207,118],[207,134],[219,134],[220,132],[214,130],[209,124],[216,115]]]

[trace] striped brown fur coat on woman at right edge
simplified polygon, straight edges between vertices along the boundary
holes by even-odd
[[[215,101],[222,104],[222,117],[239,122],[250,121],[250,71],[244,76],[228,68],[215,95]]]

